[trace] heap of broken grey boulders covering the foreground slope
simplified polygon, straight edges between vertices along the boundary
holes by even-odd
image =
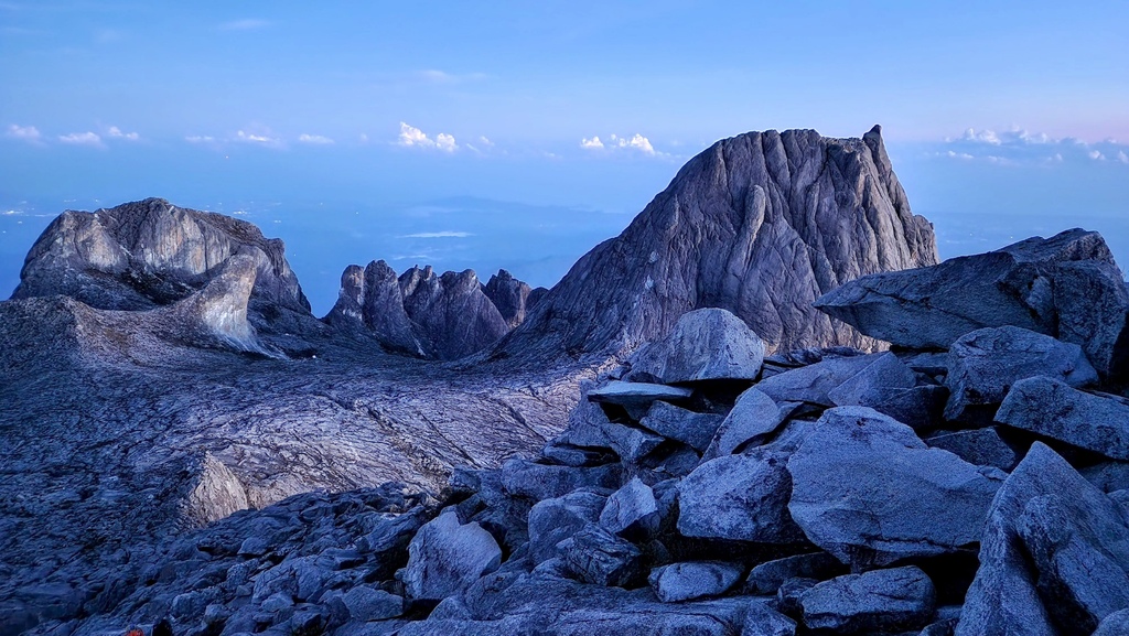
[[[586,383],[535,459],[456,469],[440,494],[386,485],[235,513],[169,540],[140,587],[106,574],[35,631],[1121,634],[1129,295],[1067,297],[1120,278],[1100,242],[1005,249],[1024,253],[1026,294],[1012,276],[992,302],[1014,307],[946,298],[918,345],[890,351],[765,357],[725,310],[686,313]],[[834,311],[910,333],[935,303],[921,281],[946,267],[948,294],[986,285],[946,263],[876,275],[855,284],[882,290],[870,308]],[[1038,324],[1019,311],[1033,303]]]

